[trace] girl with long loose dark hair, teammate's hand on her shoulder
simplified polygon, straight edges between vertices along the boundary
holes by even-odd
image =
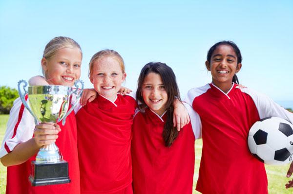
[[[192,194],[200,120],[190,107],[191,123],[180,132],[173,127],[173,102],[180,95],[172,69],[164,63],[146,64],[136,98],[141,104],[132,125],[134,194]]]

